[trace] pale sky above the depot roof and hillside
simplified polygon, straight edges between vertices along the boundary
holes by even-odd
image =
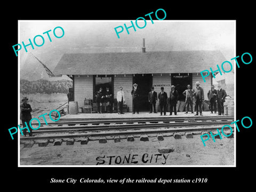
[[[60,78],[49,78],[42,65],[33,57],[35,55],[51,71],[57,66],[64,53],[92,53],[92,52],[140,52],[142,38],[146,39],[146,51],[189,51],[189,50],[219,50],[226,60],[230,61],[235,55],[235,21],[172,21],[154,20],[154,24],[147,20],[146,27],[139,29],[135,26],[119,34],[117,38],[114,28],[131,26],[130,20],[115,21],[19,21],[19,42],[28,44],[28,39],[42,35],[45,43],[34,50],[22,47],[20,55],[20,78],[35,81],[49,79],[55,81]],[[133,21],[135,25],[135,21]],[[144,21],[138,22],[145,25]],[[62,27],[65,35],[56,38],[53,35],[55,27]],[[52,42],[45,31],[50,31]],[[118,29],[119,30],[119,29]],[[61,35],[61,30],[56,30]],[[39,38],[36,39],[41,44]],[[33,55],[32,55],[32,54]],[[14,53],[15,54],[15,53]],[[216,63],[221,65],[221,63]],[[215,67],[215,66],[213,66]],[[66,78],[63,76],[63,78]]]

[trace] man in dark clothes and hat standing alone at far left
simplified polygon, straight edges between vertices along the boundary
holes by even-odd
[[[29,127],[29,136],[32,136],[32,129],[29,125],[29,122],[31,120],[31,111],[32,111],[32,108],[31,106],[27,103],[28,102],[28,98],[27,97],[23,97],[23,99],[21,100],[22,101],[22,104],[20,105],[20,119],[21,119],[21,122],[22,122],[22,126],[23,127],[26,127],[28,126]],[[27,123],[27,125],[25,124],[25,122]],[[27,129],[23,129],[22,130],[23,132],[23,135],[26,137],[27,135]]]

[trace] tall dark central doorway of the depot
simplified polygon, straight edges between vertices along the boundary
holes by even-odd
[[[140,111],[149,111],[148,93],[151,91],[153,77],[152,74],[135,74],[132,78],[132,84],[138,84],[140,90],[139,109]]]

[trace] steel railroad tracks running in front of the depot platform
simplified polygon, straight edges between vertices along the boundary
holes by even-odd
[[[234,117],[181,117],[138,119],[86,119],[84,121],[62,121],[40,127],[33,131],[35,137],[20,140],[45,140],[63,138],[107,137],[115,135],[141,135],[157,133],[213,131],[230,125]],[[50,123],[49,123],[50,124]],[[57,125],[57,126],[52,126]],[[226,127],[225,129],[229,129]]]

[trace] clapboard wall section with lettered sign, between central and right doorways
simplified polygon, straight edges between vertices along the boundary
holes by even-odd
[[[153,84],[154,91],[157,92],[157,95],[159,92],[161,92],[161,87],[163,85],[164,91],[167,93],[169,97],[169,93],[171,91],[171,76],[170,74],[153,74]],[[159,85],[159,86],[158,86]],[[158,107],[159,102],[156,103],[156,108]]]

